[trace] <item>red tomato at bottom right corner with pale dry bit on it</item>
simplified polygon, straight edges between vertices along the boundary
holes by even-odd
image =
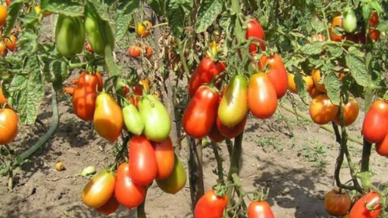
[[[353,205],[349,213],[349,218],[377,218],[380,216],[382,210],[381,203],[381,196],[371,191],[358,199]]]

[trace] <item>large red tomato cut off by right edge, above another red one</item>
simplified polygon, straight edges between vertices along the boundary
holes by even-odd
[[[367,141],[375,143],[384,139],[387,129],[388,103],[383,100],[376,100],[365,114],[362,134]]]

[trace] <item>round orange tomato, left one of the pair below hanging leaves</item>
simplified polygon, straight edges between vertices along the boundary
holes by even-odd
[[[327,94],[320,94],[311,100],[308,112],[314,123],[324,125],[334,119],[339,107],[334,105]]]

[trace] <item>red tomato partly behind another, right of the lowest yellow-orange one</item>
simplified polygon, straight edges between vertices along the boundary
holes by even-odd
[[[117,202],[129,209],[139,206],[146,198],[146,187],[132,181],[128,163],[120,164],[117,169],[114,196]]]

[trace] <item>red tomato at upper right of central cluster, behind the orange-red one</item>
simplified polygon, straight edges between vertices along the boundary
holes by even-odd
[[[283,97],[288,88],[288,76],[282,58],[278,54],[270,57],[262,55],[259,61],[259,70],[263,71],[265,66],[268,67],[266,73],[274,85],[277,98]]]

